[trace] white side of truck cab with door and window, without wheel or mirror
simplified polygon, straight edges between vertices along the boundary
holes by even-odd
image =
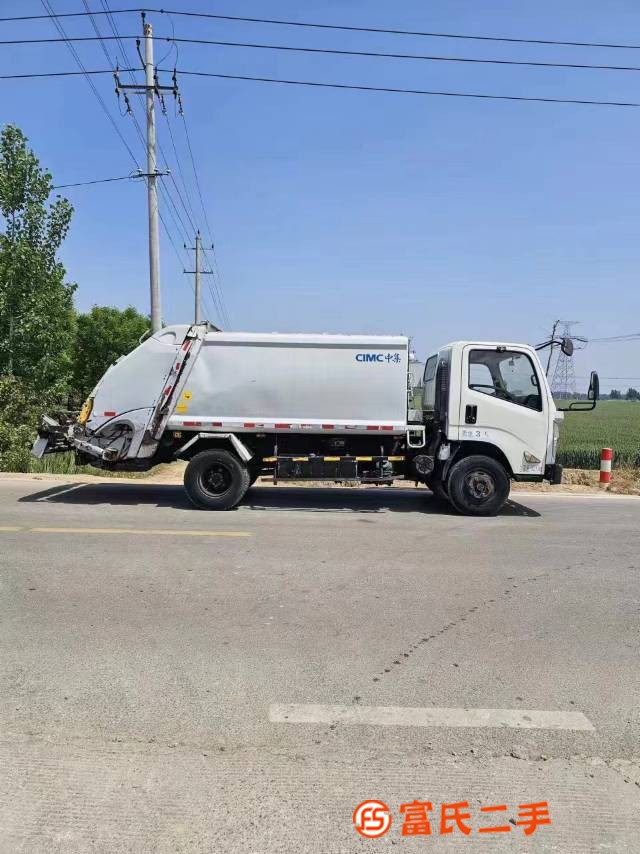
[[[500,448],[514,475],[542,475],[549,403],[540,364],[526,349],[463,348],[459,437]]]

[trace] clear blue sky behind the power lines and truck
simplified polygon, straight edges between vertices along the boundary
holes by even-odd
[[[89,0],[99,9],[97,0]],[[81,0],[52,0],[56,12]],[[113,8],[133,5],[110,0]],[[158,4],[163,5],[163,4]],[[2,15],[39,14],[36,0]],[[640,44],[640,6],[612,0],[174,0],[174,9],[472,34]],[[104,33],[103,17],[96,19]],[[640,65],[640,50],[492,44],[314,31],[150,15],[156,35],[355,50]],[[63,21],[92,35],[86,19]],[[139,16],[118,15],[122,35]],[[55,36],[49,21],[3,23],[1,38]],[[127,41],[131,58],[135,45]],[[96,42],[78,46],[104,68]],[[113,42],[108,50],[114,52]],[[156,57],[167,50],[156,44]],[[65,45],[3,46],[0,69],[71,70]],[[172,53],[165,64],[173,64]],[[178,67],[231,74],[543,97],[640,101],[640,73],[284,54],[181,45]],[[168,76],[164,82],[169,82]],[[142,79],[140,77],[140,79]],[[110,77],[95,84],[143,162]],[[0,81],[3,122],[28,135],[56,183],[127,174],[126,149],[82,78]],[[458,338],[545,337],[555,318],[588,337],[640,329],[640,109],[312,90],[182,77],[180,87],[224,300],[234,329],[402,332],[426,355]],[[184,130],[169,122],[204,228]],[[180,184],[167,122],[159,135]],[[171,189],[169,178],[163,179]],[[141,182],[66,191],[63,260],[77,304],[148,310]],[[178,202],[179,205],[179,202]],[[163,209],[174,240],[185,235]],[[183,219],[186,219],[182,212]],[[190,277],[164,232],[163,316],[187,321]],[[182,253],[184,255],[184,253]],[[186,263],[186,261],[185,261]],[[217,320],[214,312],[209,316]],[[576,373],[640,384],[640,341],[592,344]]]

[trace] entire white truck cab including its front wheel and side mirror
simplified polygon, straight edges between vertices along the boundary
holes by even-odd
[[[588,398],[591,409],[595,374]],[[533,347],[457,341],[441,348],[425,364],[422,414],[433,460],[425,481],[461,512],[497,512],[510,480],[561,482],[564,415]]]

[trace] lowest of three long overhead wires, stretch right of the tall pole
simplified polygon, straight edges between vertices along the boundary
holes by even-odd
[[[166,69],[161,69],[166,71]],[[326,83],[317,80],[285,80],[276,77],[255,77],[245,74],[219,74],[212,71],[186,71],[178,74],[191,77],[215,77],[220,80],[248,80],[256,83],[279,83],[287,86],[310,86],[321,89],[347,89],[357,92],[386,92],[400,95],[430,95],[443,98],[477,98],[488,101],[533,101],[542,104],[585,104],[598,107],[640,107],[637,101],[596,101],[586,98],[542,98],[525,95],[494,95],[483,92],[446,92],[435,89],[403,89],[391,86],[360,86],[352,83]]]

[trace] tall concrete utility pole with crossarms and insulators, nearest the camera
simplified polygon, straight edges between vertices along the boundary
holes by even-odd
[[[155,98],[157,95],[162,99],[162,92],[171,92],[174,98],[177,98],[178,84],[175,72],[173,75],[172,86],[160,86],[158,83],[156,70],[153,64],[153,27],[150,23],[147,23],[144,12],[142,12],[142,32],[144,36],[144,57],[140,53],[140,41],[136,41],[136,47],[144,68],[144,85],[138,85],[137,83],[125,85],[120,83],[117,69],[114,73],[114,78],[116,81],[116,94],[119,97],[120,92],[123,92],[128,113],[131,113],[132,110],[127,96],[127,91],[144,93],[145,95],[145,113],[147,118],[147,172],[144,177],[147,179],[147,206],[149,219],[149,293],[151,331],[153,333],[158,332],[158,330],[162,328],[162,308],[160,298],[160,228],[157,182],[158,177],[167,174],[159,172],[157,167]]]

